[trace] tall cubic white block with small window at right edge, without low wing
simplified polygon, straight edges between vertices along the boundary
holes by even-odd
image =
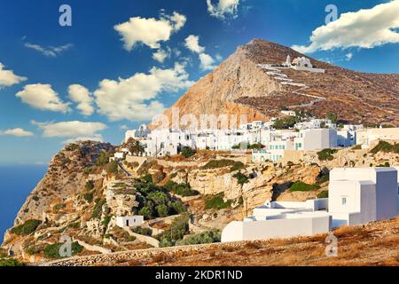
[[[332,225],[357,225],[397,215],[398,172],[394,168],[343,168],[330,172]]]

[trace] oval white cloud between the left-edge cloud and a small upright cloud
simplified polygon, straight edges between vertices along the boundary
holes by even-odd
[[[70,111],[68,104],[59,99],[59,94],[51,89],[50,84],[29,84],[24,90],[17,92],[16,96],[29,106],[41,110],[66,113]]]

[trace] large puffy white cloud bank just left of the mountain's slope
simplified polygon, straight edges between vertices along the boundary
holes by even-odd
[[[153,67],[149,74],[137,73],[118,81],[105,79],[94,91],[98,112],[113,121],[128,119],[132,121],[151,120],[165,107],[156,100],[162,91],[176,92],[192,85],[182,64],[174,68]]]

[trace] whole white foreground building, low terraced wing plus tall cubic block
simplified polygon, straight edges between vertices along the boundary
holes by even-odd
[[[398,215],[399,167],[341,168],[330,172],[329,198],[266,201],[253,216],[223,229],[222,241],[256,241],[328,233]]]

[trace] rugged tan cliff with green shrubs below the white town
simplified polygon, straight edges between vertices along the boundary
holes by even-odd
[[[51,249],[63,235],[77,243],[75,256],[149,248],[185,211],[192,220],[188,234],[223,229],[264,201],[306,201],[324,194],[332,168],[399,165],[397,153],[346,148],[326,161],[309,152],[298,162],[254,164],[243,154],[200,151],[188,159],[125,161],[118,166],[110,159],[114,148],[87,141],[68,145],[54,156],[5,234],[2,248],[34,263],[54,258]],[[310,187],[291,191],[296,182]],[[197,194],[183,196],[177,187]],[[138,238],[116,226],[116,216],[137,213],[150,218],[144,228],[151,228],[151,237]]]

